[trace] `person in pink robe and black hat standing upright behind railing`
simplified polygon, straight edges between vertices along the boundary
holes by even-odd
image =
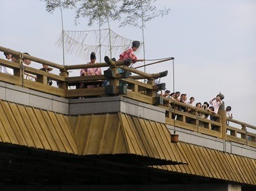
[[[90,54],[90,62],[88,64],[94,64],[96,63],[96,54],[95,52],[92,52]],[[81,72],[80,72],[80,76],[83,76],[83,75],[101,75],[101,68],[83,68],[81,69]],[[92,86],[87,86],[87,88],[94,88],[94,87],[98,87],[99,85],[92,85]],[[85,88],[84,87],[84,83],[81,82],[80,83],[80,88]]]

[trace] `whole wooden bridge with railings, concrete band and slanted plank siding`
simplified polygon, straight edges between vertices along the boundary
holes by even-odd
[[[214,114],[218,120],[211,121],[198,115],[212,115],[208,111],[158,96],[165,84],[155,79],[167,72],[145,73],[107,57],[107,63],[62,66],[4,47],[0,51],[17,57],[0,59],[0,66],[13,69],[13,75],[0,73],[1,184],[255,189],[256,126],[226,119],[224,105]],[[25,67],[24,58],[60,75]],[[110,70],[69,77],[71,70],[92,67]],[[37,80],[26,80],[25,74]],[[47,85],[47,79],[58,86]],[[108,85],[101,86],[105,80]],[[80,82],[99,86],[70,88]],[[174,132],[178,142],[171,141]]]

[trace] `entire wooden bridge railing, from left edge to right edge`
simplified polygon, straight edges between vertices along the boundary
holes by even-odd
[[[166,123],[169,125],[239,142],[256,148],[256,126],[235,119],[226,119],[225,111],[219,110],[219,114],[212,114],[209,111],[198,109],[191,105],[157,96],[157,91],[164,89],[165,84],[155,84],[155,79],[166,76],[167,72],[149,74],[125,66],[125,62],[112,61],[91,65],[63,66],[4,47],[0,47],[0,51],[8,52],[17,57],[15,62],[0,59],[0,66],[13,69],[13,75],[0,73],[0,81],[2,82],[64,98],[125,96],[133,100],[138,100],[139,102],[158,105],[158,107],[164,108],[166,110]],[[59,75],[24,66],[22,65],[22,59],[30,59],[40,66],[42,64],[51,66],[53,70],[59,72]],[[71,70],[92,67],[108,67],[109,69],[105,70],[104,75],[69,77],[69,71]],[[118,68],[121,68],[124,72],[120,73]],[[35,76],[36,80],[24,79],[25,73]],[[55,81],[58,86],[49,86],[47,79]],[[146,79],[146,83],[144,79]],[[96,88],[79,88],[78,86],[81,82],[89,86],[95,84],[98,86]],[[105,82],[108,82],[107,86],[103,86]],[[70,86],[75,86],[76,88],[71,89],[69,88]],[[178,107],[186,107],[191,112],[180,111]],[[212,121],[209,118],[202,118],[200,114],[214,116],[216,121]],[[227,122],[229,122],[229,125],[226,125]]]

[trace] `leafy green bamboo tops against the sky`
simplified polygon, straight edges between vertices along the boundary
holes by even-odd
[[[89,19],[88,26],[98,22],[102,26],[108,20],[121,20],[120,26],[144,27],[144,23],[164,16],[169,9],[157,10],[156,0],[40,0],[46,2],[46,10],[53,13],[56,8],[76,10],[75,24],[81,17]],[[122,19],[121,19],[122,18]],[[139,24],[141,22],[141,24]]]

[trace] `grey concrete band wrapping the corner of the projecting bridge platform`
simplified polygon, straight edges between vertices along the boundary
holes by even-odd
[[[69,100],[69,114],[101,114],[123,112],[139,118],[165,123],[165,110],[120,96]]]

